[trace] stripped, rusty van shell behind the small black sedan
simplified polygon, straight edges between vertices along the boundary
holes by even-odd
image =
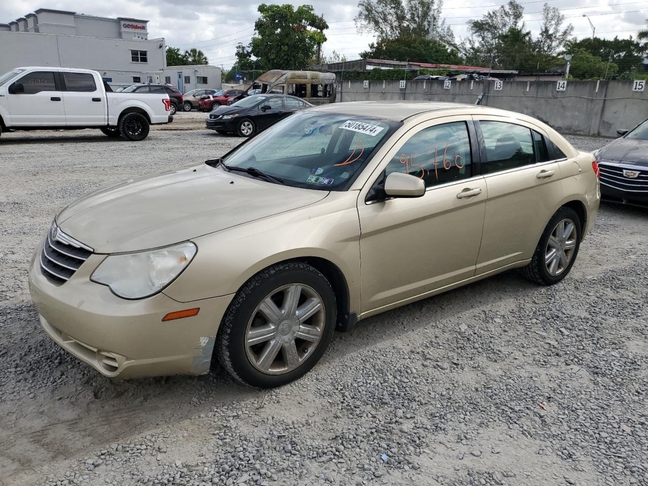
[[[335,75],[320,71],[272,69],[255,79],[242,95],[234,98],[233,103],[249,95],[266,93],[291,95],[313,105],[334,103]]]

